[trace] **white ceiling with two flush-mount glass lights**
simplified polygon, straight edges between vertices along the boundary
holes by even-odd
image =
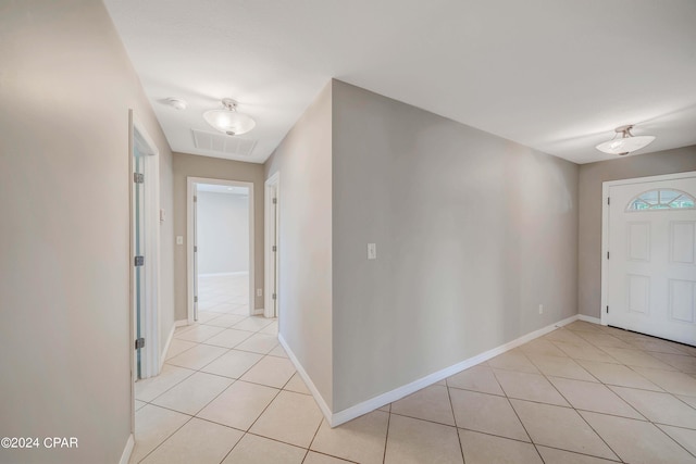
[[[264,162],[334,77],[575,163],[696,145],[694,0],[105,0],[173,150]],[[160,101],[188,102],[174,110]],[[194,146],[229,97],[251,154]]]

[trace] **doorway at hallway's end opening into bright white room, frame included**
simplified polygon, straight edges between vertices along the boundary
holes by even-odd
[[[254,314],[253,184],[188,178],[188,322]]]

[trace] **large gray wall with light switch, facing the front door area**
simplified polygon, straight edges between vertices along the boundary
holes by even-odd
[[[576,314],[575,164],[335,80],[332,173],[334,412]]]

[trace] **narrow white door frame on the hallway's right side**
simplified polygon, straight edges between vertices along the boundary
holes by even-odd
[[[274,252],[273,243],[278,246],[278,238],[281,236],[281,173],[276,172],[269,177],[264,183],[264,310],[263,315],[265,317],[277,317],[279,308],[279,291],[278,291],[278,262],[279,262],[279,247]],[[273,198],[276,199],[275,205],[273,204]],[[273,285],[275,284],[275,286]],[[274,288],[275,287],[275,288]],[[273,292],[275,290],[275,302],[273,301]]]

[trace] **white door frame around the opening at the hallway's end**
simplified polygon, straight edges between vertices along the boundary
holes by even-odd
[[[187,314],[188,324],[194,324],[194,193],[196,184],[213,184],[227,187],[246,187],[249,189],[249,315],[256,314],[254,309],[254,243],[253,243],[253,217],[254,196],[253,183],[244,180],[216,179],[210,177],[186,177],[186,274],[187,274]]]

